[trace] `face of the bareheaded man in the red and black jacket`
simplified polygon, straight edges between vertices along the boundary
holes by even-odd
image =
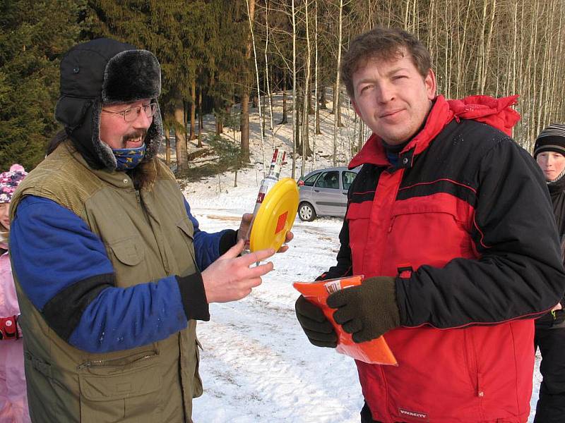
[[[399,59],[370,59],[353,74],[357,115],[390,145],[416,135],[436,95],[436,78],[430,69],[425,78],[407,51]]]

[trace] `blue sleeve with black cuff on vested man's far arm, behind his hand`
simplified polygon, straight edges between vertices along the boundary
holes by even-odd
[[[224,231],[207,233],[200,230],[200,224],[190,212],[189,202],[184,199],[186,214],[194,225],[194,252],[198,269],[204,270],[215,262],[220,255],[224,254],[235,243],[237,243],[237,231],[225,229]]]

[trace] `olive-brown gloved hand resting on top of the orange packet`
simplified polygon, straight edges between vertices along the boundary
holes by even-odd
[[[328,306],[338,309],[333,313],[335,323],[352,333],[356,343],[400,326],[396,281],[389,276],[367,278],[359,286],[338,290],[328,297]]]

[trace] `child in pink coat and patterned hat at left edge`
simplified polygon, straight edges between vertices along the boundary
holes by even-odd
[[[30,422],[23,340],[18,327],[20,309],[8,255],[10,200],[27,174],[19,164],[0,173],[0,423]]]

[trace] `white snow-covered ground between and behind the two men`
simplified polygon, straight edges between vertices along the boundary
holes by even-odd
[[[280,101],[280,96],[275,97]],[[331,98],[331,97],[329,97]],[[329,107],[329,105],[328,105]],[[344,108],[344,118],[347,106]],[[280,106],[275,108],[280,121]],[[251,118],[251,162],[254,167],[238,173],[225,173],[184,188],[192,212],[204,231],[237,228],[244,212],[251,212],[262,178],[263,157],[258,119]],[[316,137],[316,163],[311,168],[329,166],[324,157],[331,152],[333,116],[322,111],[323,136]],[[290,113],[289,113],[290,118]],[[338,151],[347,159],[347,139],[354,123],[341,129]],[[276,128],[276,137],[266,136],[266,158],[270,160],[275,140],[287,152],[292,146],[291,123]],[[205,130],[213,130],[207,119]],[[231,131],[229,132],[231,136]],[[239,134],[236,133],[239,139]],[[282,177],[290,176],[290,162]],[[300,168],[300,162],[297,163]],[[297,177],[299,176],[299,170]],[[294,311],[297,291],[293,281],[311,281],[335,262],[338,252],[340,219],[297,219],[290,250],[273,258],[275,269],[263,278],[249,297],[239,302],[210,306],[209,322],[198,324],[203,344],[200,372],[204,394],[194,400],[196,423],[357,423],[362,394],[355,363],[328,348],[316,348],[302,332]],[[536,358],[535,409],[540,375]],[[533,413],[532,413],[533,414]],[[529,422],[533,422],[530,416]]]

